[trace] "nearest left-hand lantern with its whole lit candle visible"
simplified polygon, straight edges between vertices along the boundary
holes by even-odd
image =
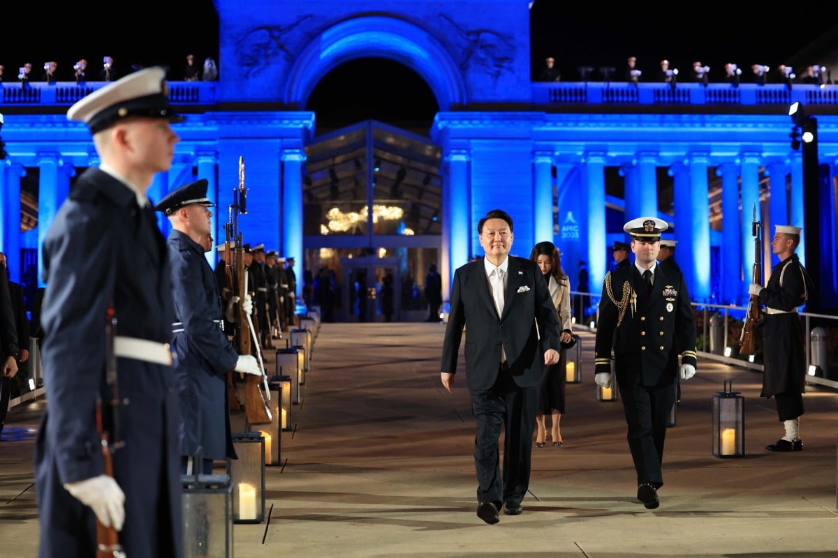
[[[233,485],[234,523],[265,520],[266,442],[261,432],[233,433],[233,448],[239,458],[227,458],[227,474]]]

